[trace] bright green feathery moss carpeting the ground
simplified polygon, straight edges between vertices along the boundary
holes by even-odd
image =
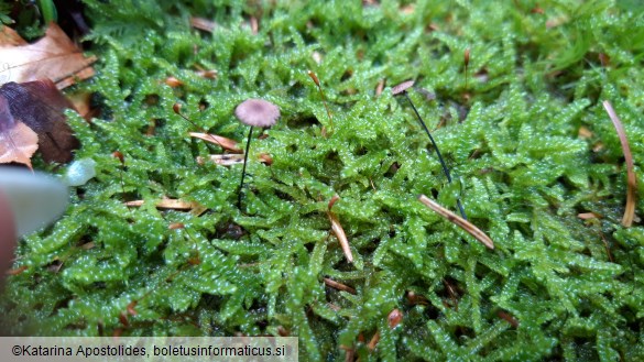
[[[412,12],[396,1],[87,3],[100,61],[80,87],[100,95],[102,114],[69,121],[83,143],[77,157],[95,160],[97,177],[70,190],[56,224],[21,242],[15,266],[28,268],[10,277],[2,301],[12,332],[285,329],[299,337],[306,360],[343,360],[340,345],[364,361],[644,359],[644,229],[620,224],[623,154],[601,107],[614,105],[644,179],[641,13],[572,0],[539,1],[544,14],[531,12],[534,2],[512,1],[418,1]],[[218,26],[190,29],[188,14]],[[259,34],[242,24],[251,15],[260,17]],[[197,68],[217,69],[218,78]],[[325,87],[332,130],[307,69]],[[184,85],[166,86],[168,76]],[[381,79],[410,78],[434,95],[410,96],[457,183],[447,183],[411,109],[389,88],[374,92]],[[279,105],[282,119],[253,142],[241,212],[241,167],[197,164],[220,151],[190,139],[198,130],[172,106],[182,102],[196,123],[243,142],[248,128],[233,109],[249,97]],[[589,139],[578,136],[581,127]],[[124,167],[111,156],[117,150]],[[262,152],[271,166],[255,161]],[[330,235],[335,194],[352,265]],[[496,249],[427,210],[418,194],[452,209],[460,198]],[[163,197],[208,211],[155,209]],[[132,199],[146,204],[122,204]],[[577,217],[590,211],[601,219]],[[185,229],[168,230],[172,222]],[[95,246],[80,248],[87,242]],[[326,287],[325,276],[356,295]],[[410,290],[426,301],[411,304]],[[125,327],[119,316],[134,300]],[[394,308],[404,319],[392,330]],[[360,340],[376,331],[370,351]]]

